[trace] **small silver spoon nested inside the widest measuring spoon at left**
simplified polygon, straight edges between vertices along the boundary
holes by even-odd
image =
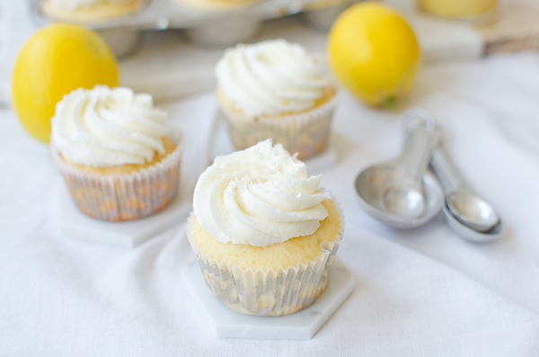
[[[406,112],[402,123],[406,141],[402,153],[402,176],[382,194],[382,207],[387,213],[404,219],[420,217],[425,211],[423,176],[429,166],[432,147],[437,142],[437,129],[429,117],[418,110]],[[412,120],[419,120],[411,128]]]

